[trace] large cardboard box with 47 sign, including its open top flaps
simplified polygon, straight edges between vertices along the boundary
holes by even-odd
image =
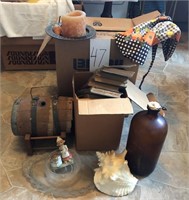
[[[134,19],[115,19],[115,18],[87,18],[87,24],[95,28],[98,32],[96,39],[104,38],[110,39],[110,56],[109,65],[123,65],[132,63],[131,60],[125,58],[117,45],[115,44],[114,35],[117,30],[125,31],[141,22],[148,21],[159,16],[159,12],[155,11],[144,16],[136,17]],[[101,25],[94,25],[94,22],[100,22]],[[97,23],[98,24],[98,23]],[[101,31],[111,31],[101,32]],[[90,71],[90,39],[86,40],[58,40],[55,39],[56,52],[56,72],[58,93],[63,96],[72,96],[72,76],[74,71]],[[133,78],[135,83],[137,76]]]

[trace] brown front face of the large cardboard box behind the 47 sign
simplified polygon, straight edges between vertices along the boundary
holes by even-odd
[[[111,39],[110,65],[123,65],[131,63],[119,51],[115,41]],[[75,71],[90,71],[90,40],[63,41],[55,40],[56,72],[58,94],[72,96],[72,77]],[[133,82],[136,80],[138,65],[131,70],[136,72]]]

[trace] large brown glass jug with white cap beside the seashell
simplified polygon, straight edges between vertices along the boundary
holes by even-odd
[[[159,103],[149,102],[147,108],[132,118],[126,146],[131,173],[141,177],[155,169],[168,130]]]

